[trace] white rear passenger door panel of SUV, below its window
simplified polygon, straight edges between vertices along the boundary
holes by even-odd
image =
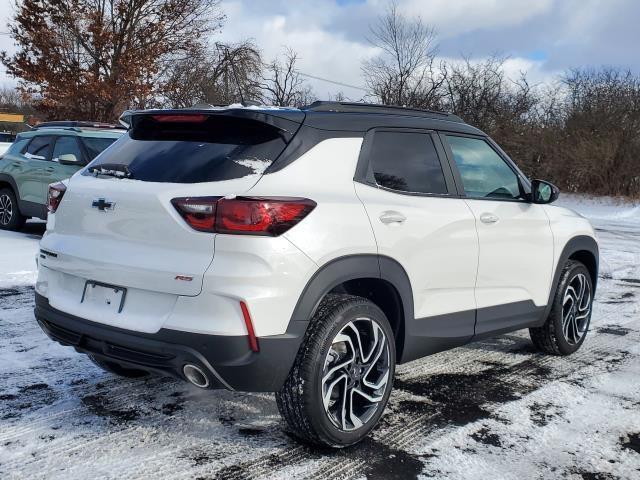
[[[378,252],[397,260],[409,276],[416,318],[476,308],[478,236],[464,200],[399,195],[362,184],[356,184],[356,191],[371,219]]]

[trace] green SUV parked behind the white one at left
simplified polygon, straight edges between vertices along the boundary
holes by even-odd
[[[125,129],[90,122],[45,122],[20,133],[0,158],[0,229],[47,218],[49,184],[71,177]]]

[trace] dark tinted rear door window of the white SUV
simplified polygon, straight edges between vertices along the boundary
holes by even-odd
[[[442,166],[429,134],[376,132],[370,162],[381,187],[403,192],[447,193]]]

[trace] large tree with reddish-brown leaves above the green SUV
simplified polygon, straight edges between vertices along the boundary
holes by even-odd
[[[0,60],[49,117],[110,121],[154,105],[166,65],[223,20],[219,0],[19,0]]]

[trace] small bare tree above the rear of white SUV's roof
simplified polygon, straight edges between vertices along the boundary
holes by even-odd
[[[281,57],[274,58],[264,66],[259,85],[263,103],[294,107],[311,103],[313,91],[296,70],[297,62],[298,54],[287,47]]]

